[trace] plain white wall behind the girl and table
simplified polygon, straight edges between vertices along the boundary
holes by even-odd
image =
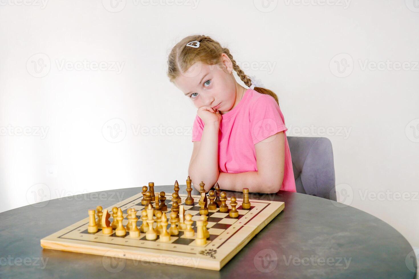
[[[0,1],[0,211],[41,196],[184,184],[196,109],[168,82],[166,59],[178,39],[200,33],[229,47],[246,74],[277,93],[288,136],[322,136],[318,128],[333,127],[325,136],[339,200],[419,247],[413,0],[273,0],[266,8],[260,0],[122,0],[119,12],[108,0],[18,1]],[[49,72],[34,72],[40,59]],[[60,67],[83,60],[104,61],[107,70]],[[387,60],[383,70],[363,68]],[[349,67],[339,74],[335,61]],[[392,70],[394,62],[406,69]],[[122,132],[112,139],[115,124]],[[9,134],[9,125],[29,127],[29,135]],[[160,125],[180,135],[136,132]]]

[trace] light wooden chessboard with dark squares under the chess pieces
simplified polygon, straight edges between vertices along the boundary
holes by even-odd
[[[157,194],[157,192],[156,192]],[[194,205],[185,205],[187,195],[180,194],[184,205],[185,214],[190,213],[194,221],[193,228],[195,235],[187,238],[183,231],[179,235],[171,236],[169,243],[156,240],[149,241],[145,238],[145,233],[141,233],[138,238],[131,238],[129,232],[124,236],[116,236],[115,230],[112,235],[103,235],[101,229],[96,233],[88,233],[87,227],[89,218],[70,225],[57,233],[41,239],[41,246],[47,249],[87,253],[101,256],[116,256],[125,259],[152,261],[164,264],[175,264],[179,266],[189,266],[193,268],[220,270],[235,254],[237,254],[259,231],[264,228],[275,216],[284,209],[284,202],[250,200],[251,208],[243,209],[243,200],[237,199],[237,210],[239,216],[231,218],[228,214],[216,210],[209,210],[207,228],[209,238],[207,244],[199,246],[195,243],[196,221],[199,220],[200,196],[192,195]],[[171,197],[166,194],[166,197]],[[127,200],[117,203],[107,210],[112,212],[112,207],[120,207],[123,212],[123,224],[127,225],[127,209],[137,210],[140,219],[142,194],[134,195]],[[168,199],[166,215],[169,216],[171,201]],[[227,200],[229,205],[230,199]],[[169,213],[169,214],[168,214]],[[87,216],[87,212],[86,212]],[[111,219],[112,220],[112,217]],[[137,221],[140,227],[141,219]],[[154,226],[156,223],[154,223]],[[170,227],[170,225],[169,225]]]

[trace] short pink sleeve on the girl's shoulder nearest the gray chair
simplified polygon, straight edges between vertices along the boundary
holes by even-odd
[[[253,144],[288,130],[277,101],[272,96],[262,95],[250,110],[250,131]]]

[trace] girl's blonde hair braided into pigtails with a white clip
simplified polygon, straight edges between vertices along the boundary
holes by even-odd
[[[186,47],[186,44],[191,41],[198,41],[199,47]],[[230,54],[230,50],[223,48],[219,42],[204,35],[187,36],[173,47],[167,60],[167,76],[173,82],[181,73],[186,72],[196,62],[203,62],[208,65],[220,64],[222,53],[227,54],[233,63],[233,70],[237,72],[241,81],[250,87],[252,84],[251,79],[236,64],[233,55]],[[279,105],[278,96],[271,90],[262,87],[255,87],[254,90],[261,94],[272,96]]]

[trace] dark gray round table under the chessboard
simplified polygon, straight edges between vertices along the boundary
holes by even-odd
[[[180,187],[179,193],[186,194],[186,186]],[[170,193],[173,186],[155,186],[158,191]],[[414,278],[416,274],[412,247],[387,223],[354,207],[284,191],[251,194],[251,199],[283,201],[285,209],[220,271],[128,259],[110,269],[102,256],[41,248],[41,238],[86,218],[88,209],[109,207],[139,192],[140,187],[88,193],[0,213],[0,278]],[[240,192],[227,193],[241,198]]]

